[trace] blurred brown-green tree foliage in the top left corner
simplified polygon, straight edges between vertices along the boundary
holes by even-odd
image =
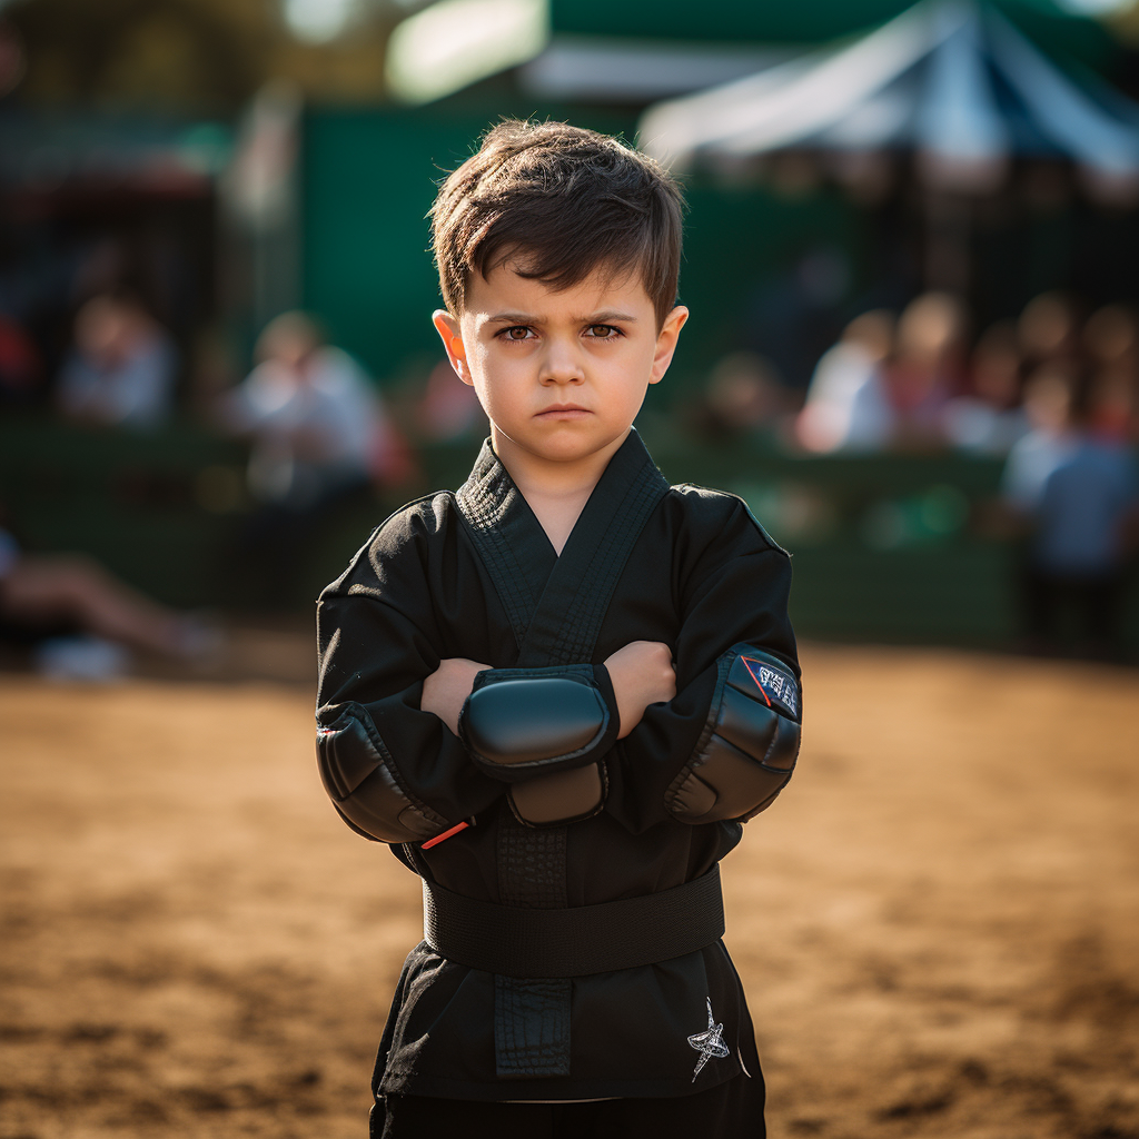
[[[351,34],[296,39],[281,0],[14,0],[18,98],[223,114],[272,77],[319,101],[383,99],[387,33],[405,9],[358,3]]]

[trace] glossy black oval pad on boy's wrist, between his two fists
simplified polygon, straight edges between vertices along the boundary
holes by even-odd
[[[603,666],[489,669],[459,714],[459,735],[489,776],[521,782],[592,763],[617,737]]]

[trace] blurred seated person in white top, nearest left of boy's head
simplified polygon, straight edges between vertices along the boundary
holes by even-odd
[[[265,326],[256,355],[257,366],[221,404],[223,425],[253,441],[253,498],[305,513],[367,485],[388,460],[392,435],[363,369],[325,344],[302,312]]]

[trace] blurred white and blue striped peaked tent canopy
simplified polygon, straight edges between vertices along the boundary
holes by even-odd
[[[679,169],[794,147],[912,150],[927,182],[973,192],[1014,155],[1063,157],[1105,196],[1139,194],[1139,106],[1074,81],[975,0],[921,0],[853,43],[659,103],[640,138]]]

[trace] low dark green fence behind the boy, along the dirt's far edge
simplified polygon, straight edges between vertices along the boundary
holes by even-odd
[[[1016,551],[978,534],[978,508],[1000,462],[956,457],[795,458],[747,443],[696,449],[664,433],[648,442],[673,482],[740,494],[792,550],[792,615],[801,636],[1001,646],[1016,634]],[[400,502],[457,486],[473,443],[421,451],[420,486],[347,503],[301,563],[289,604],[308,608],[370,530]],[[35,417],[0,423],[0,501],[41,550],[90,554],[177,605],[252,608],[233,540],[248,519],[244,452],[200,428],[137,436],[62,428]],[[1132,590],[1128,640],[1139,648]]]

